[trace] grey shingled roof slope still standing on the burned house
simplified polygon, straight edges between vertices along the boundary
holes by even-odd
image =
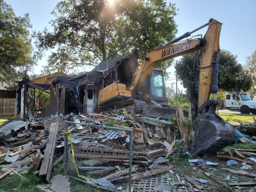
[[[130,56],[133,56],[133,57],[135,56],[136,58],[138,58],[138,56],[139,56],[138,51],[135,50],[131,53],[126,53],[119,57],[115,57],[113,59],[102,61],[92,71],[106,71],[111,68],[117,67],[124,59],[129,58]]]

